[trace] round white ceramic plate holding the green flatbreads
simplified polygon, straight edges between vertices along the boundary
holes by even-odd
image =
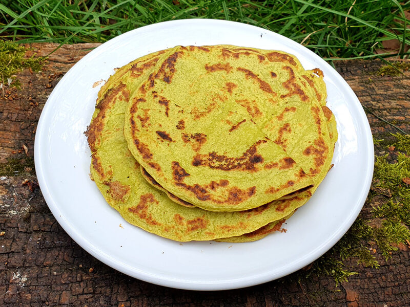
[[[98,87],[113,69],[176,45],[229,44],[283,50],[305,69],[320,68],[327,105],[336,116],[335,166],[312,199],[287,221],[286,233],[252,243],[178,243],[125,222],[89,178],[84,131]],[[373,175],[373,140],[363,109],[347,83],[324,60],[298,43],[254,26],[186,19],[142,27],[99,46],[60,80],[40,117],[35,167],[44,198],[65,231],[114,269],[163,286],[224,290],[290,274],[329,250],[359,214]],[[121,224],[122,228],[119,227]]]

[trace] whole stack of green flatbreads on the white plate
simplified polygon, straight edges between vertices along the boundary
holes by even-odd
[[[129,223],[185,242],[281,230],[331,168],[336,121],[319,69],[290,54],[182,47],[140,57],[101,87],[91,175]]]

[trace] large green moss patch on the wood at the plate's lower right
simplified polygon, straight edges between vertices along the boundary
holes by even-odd
[[[375,147],[384,146],[382,152],[387,153],[375,158],[372,187],[365,204],[372,206],[372,220],[361,213],[329,252],[298,272],[299,279],[328,274],[337,285],[357,274],[348,267],[347,260],[378,268],[376,253],[387,260],[398,244],[410,240],[410,137],[390,137],[388,142],[375,140]]]

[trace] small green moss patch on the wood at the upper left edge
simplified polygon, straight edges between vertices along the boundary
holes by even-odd
[[[13,41],[0,40],[0,83],[4,89],[4,85],[19,87],[19,82],[15,78],[15,74],[24,69],[40,71],[44,65],[45,58],[25,57],[26,52],[32,50],[20,46]]]

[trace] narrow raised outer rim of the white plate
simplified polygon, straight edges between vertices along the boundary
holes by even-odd
[[[104,264],[114,268],[115,270],[127,274],[129,276],[138,278],[140,280],[144,280],[150,283],[158,284],[160,286],[166,286],[166,287],[172,287],[172,288],[178,288],[178,289],[186,289],[186,290],[206,290],[206,291],[212,291],[212,290],[229,290],[229,289],[238,289],[238,288],[244,288],[244,287],[251,287],[255,286],[256,284],[268,282],[277,278],[281,278],[283,276],[286,276],[288,274],[291,274],[293,272],[296,272],[297,270],[303,268],[306,265],[309,265],[311,262],[314,260],[318,259],[321,255],[323,255],[326,251],[330,250],[338,241],[339,239],[346,233],[346,231],[352,226],[354,221],[356,220],[358,214],[360,213],[364,202],[367,198],[368,191],[370,190],[370,185],[372,182],[373,178],[373,170],[374,170],[374,145],[373,145],[373,138],[372,138],[372,133],[370,129],[370,124],[368,123],[367,117],[365,116],[365,113],[363,109],[358,109],[358,114],[360,115],[359,121],[363,125],[360,126],[363,128],[363,135],[366,136],[366,148],[368,149],[368,159],[367,159],[367,165],[366,169],[368,170],[366,177],[365,177],[365,182],[363,183],[363,188],[361,190],[360,197],[357,198],[358,204],[361,204],[360,206],[357,206],[355,208],[356,210],[352,211],[350,216],[348,216],[345,219],[345,223],[343,224],[343,227],[339,229],[339,231],[330,239],[330,242],[327,243],[326,245],[322,245],[319,247],[315,253],[305,256],[302,261],[299,261],[299,265],[297,267],[291,268],[291,269],[283,269],[281,272],[276,273],[276,274],[259,274],[259,275],[252,275],[252,276],[247,276],[244,278],[236,278],[232,280],[226,280],[226,281],[205,281],[205,282],[199,282],[199,281],[189,281],[189,280],[180,280],[180,279],[172,279],[172,278],[163,278],[161,276],[156,276],[155,274],[150,274],[149,272],[145,272],[142,270],[139,270],[135,267],[131,267],[127,264],[124,264],[122,262],[116,261],[112,257],[109,257],[109,255],[103,253],[102,251],[98,251],[94,248],[94,245],[89,242],[88,239],[85,239],[83,236],[81,236],[80,233],[78,233],[69,223],[69,221],[66,219],[66,217],[60,212],[58,208],[58,204],[53,198],[52,191],[49,189],[49,185],[47,184],[47,179],[45,177],[45,172],[43,169],[43,164],[41,163],[41,156],[42,156],[42,142],[44,138],[44,133],[47,131],[47,126],[45,123],[43,123],[46,119],[46,116],[50,112],[51,109],[51,103],[48,103],[49,101],[53,101],[54,96],[56,96],[59,87],[63,82],[63,80],[67,79],[70,77],[70,75],[73,73],[73,69],[79,65],[78,63],[83,63],[87,61],[89,58],[93,57],[94,54],[98,54],[100,50],[104,50],[108,46],[111,46],[112,44],[115,44],[117,40],[124,39],[128,35],[134,35],[134,33],[141,31],[141,29],[147,30],[150,29],[155,30],[155,28],[162,28],[168,24],[209,24],[209,23],[214,23],[214,24],[220,24],[221,26],[234,26],[234,27],[244,27],[244,28],[249,28],[249,29],[254,29],[258,31],[262,31],[262,33],[270,32],[281,39],[283,39],[286,43],[288,43],[291,47],[297,47],[299,50],[301,50],[305,53],[308,53],[310,56],[312,56],[315,60],[321,62],[322,64],[325,63],[329,68],[331,68],[334,71],[333,77],[336,77],[338,84],[343,84],[343,89],[347,91],[349,94],[348,96],[352,98],[355,102],[355,105],[361,106],[359,99],[357,98],[356,94],[353,92],[351,89],[350,85],[347,84],[347,82],[340,76],[340,74],[334,70],[330,64],[328,64],[326,61],[324,61],[321,57],[313,53],[311,50],[308,48],[300,45],[299,43],[293,41],[290,38],[287,38],[285,36],[282,36],[280,34],[277,34],[273,31],[267,30],[267,29],[262,29],[253,25],[248,25],[248,24],[242,24],[238,23],[236,21],[229,21],[229,20],[221,20],[221,19],[202,19],[202,18],[193,18],[193,19],[178,19],[178,20],[170,20],[170,21],[163,21],[161,23],[156,23],[144,27],[140,27],[131,31],[128,31],[124,34],[121,34],[119,36],[116,36],[107,42],[101,44],[98,46],[96,49],[85,55],[83,58],[81,58],[77,63],[73,65],[72,68],[63,76],[63,78],[60,79],[58,84],[55,86],[54,90],[50,94],[50,96],[47,99],[47,102],[42,110],[42,114],[40,115],[40,118],[38,120],[37,124],[37,130],[36,130],[36,135],[35,135],[35,141],[34,141],[34,163],[35,163],[35,169],[36,169],[36,176],[37,180],[40,186],[40,189],[43,193],[44,199],[56,218],[57,222],[59,225],[67,232],[67,234],[84,250],[86,250],[89,254],[91,254],[93,257],[97,258]],[[104,46],[104,47],[103,47]],[[137,272],[136,272],[137,271]]]

